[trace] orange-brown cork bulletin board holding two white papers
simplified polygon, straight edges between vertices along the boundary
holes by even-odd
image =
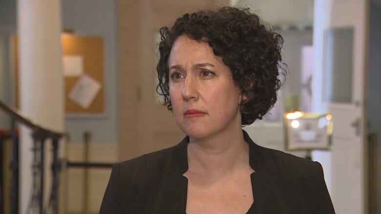
[[[65,76],[65,110],[67,114],[104,114],[104,62],[103,39],[101,37],[84,37],[63,35],[61,37],[63,57],[78,56],[83,59],[83,74],[93,78],[101,87],[87,108],[69,98],[70,92],[80,77]]]

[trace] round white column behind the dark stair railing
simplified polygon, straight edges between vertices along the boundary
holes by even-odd
[[[63,131],[61,0],[18,0],[19,99],[22,114],[54,131]],[[48,145],[49,144],[49,145]],[[32,185],[32,138],[21,128],[20,214],[26,212]],[[45,193],[50,190],[50,143],[46,144]]]

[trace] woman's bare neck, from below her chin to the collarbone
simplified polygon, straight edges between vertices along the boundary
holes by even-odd
[[[242,130],[239,128],[202,140],[190,138],[188,165],[192,174],[211,178],[232,175],[235,170],[248,167],[249,146]]]

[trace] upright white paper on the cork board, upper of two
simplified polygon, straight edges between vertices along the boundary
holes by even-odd
[[[79,77],[84,73],[84,58],[81,55],[63,55],[63,75]]]

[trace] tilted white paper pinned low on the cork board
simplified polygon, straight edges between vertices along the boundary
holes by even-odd
[[[70,91],[69,98],[87,109],[101,90],[101,83],[88,75],[83,75]]]

